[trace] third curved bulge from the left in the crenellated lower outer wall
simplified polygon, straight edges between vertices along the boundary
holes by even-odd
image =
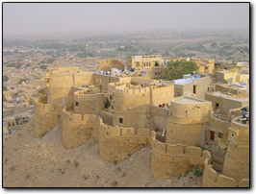
[[[146,129],[111,127],[100,123],[100,158],[110,162],[124,160],[138,151],[141,145],[150,145],[150,138],[151,133]]]

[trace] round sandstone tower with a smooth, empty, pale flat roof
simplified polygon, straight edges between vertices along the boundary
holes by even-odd
[[[170,102],[166,143],[199,146],[204,139],[204,124],[209,122],[212,103],[191,97]]]

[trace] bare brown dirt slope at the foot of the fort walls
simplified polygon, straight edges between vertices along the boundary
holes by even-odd
[[[101,160],[99,144],[90,139],[65,150],[61,128],[43,138],[35,136],[35,122],[3,139],[3,187],[200,187],[202,177],[192,172],[174,180],[155,180],[151,147],[125,161]]]

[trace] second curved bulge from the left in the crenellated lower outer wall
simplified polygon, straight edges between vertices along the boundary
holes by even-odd
[[[90,140],[99,126],[99,116],[76,114],[63,109],[63,143],[65,149],[73,149]]]

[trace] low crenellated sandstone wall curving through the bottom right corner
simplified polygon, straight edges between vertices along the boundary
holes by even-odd
[[[218,174],[210,159],[205,159],[202,187],[249,187],[249,179],[236,181],[232,177]]]

